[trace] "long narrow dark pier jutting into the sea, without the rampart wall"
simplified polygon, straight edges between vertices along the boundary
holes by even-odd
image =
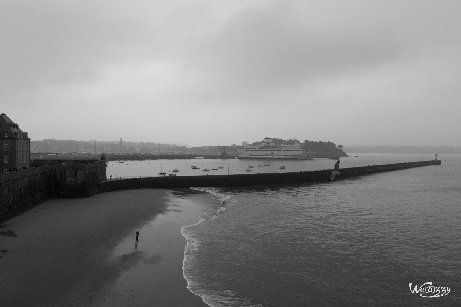
[[[394,164],[369,165],[355,168],[341,168],[341,176],[335,180],[362,176],[367,174],[390,172],[406,168],[439,165],[440,160],[419,162],[403,162]],[[242,185],[266,185],[266,184],[292,184],[309,182],[328,182],[330,170],[269,173],[269,174],[234,174],[234,175],[200,175],[200,176],[165,176],[143,177],[119,180],[106,180],[98,184],[99,192],[118,191],[141,188],[189,188],[189,187],[221,187]]]

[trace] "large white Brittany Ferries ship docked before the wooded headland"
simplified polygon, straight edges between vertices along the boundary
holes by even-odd
[[[271,138],[264,138],[261,145],[246,145],[238,150],[239,159],[310,159],[317,151],[305,151],[295,139],[295,145],[275,145]]]

